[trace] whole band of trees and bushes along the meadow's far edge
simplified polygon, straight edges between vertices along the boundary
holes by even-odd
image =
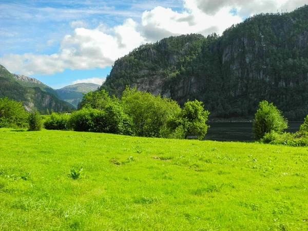
[[[171,99],[126,89],[121,99],[105,90],[85,93],[79,110],[72,114],[52,112],[43,120],[39,112],[29,113],[22,102],[0,99],[0,127],[28,127],[41,130],[74,130],[124,134],[128,136],[202,140],[209,126],[209,112],[198,100],[187,101],[183,108]],[[273,103],[261,101],[253,121],[255,140],[263,143],[308,146],[308,115],[300,130],[284,132],[288,121]]]

